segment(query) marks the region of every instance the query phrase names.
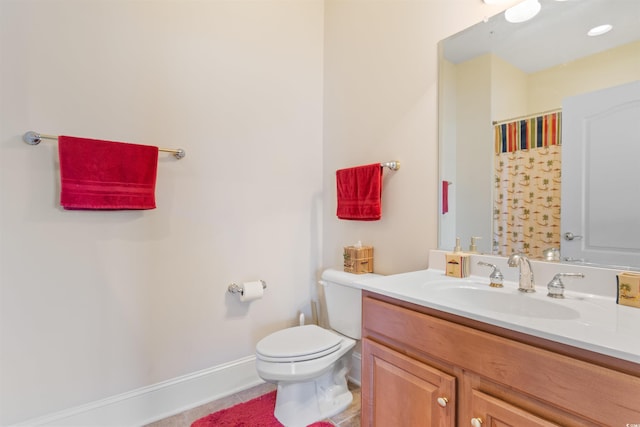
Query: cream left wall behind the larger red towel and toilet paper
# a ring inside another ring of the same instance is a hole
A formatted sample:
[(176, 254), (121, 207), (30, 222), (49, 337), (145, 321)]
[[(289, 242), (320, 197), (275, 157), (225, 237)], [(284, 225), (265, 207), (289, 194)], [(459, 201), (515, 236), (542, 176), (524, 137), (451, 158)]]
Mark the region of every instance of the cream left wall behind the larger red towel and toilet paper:
[[(321, 268), (323, 3), (1, 0), (0, 425), (252, 355)], [(56, 142), (182, 147), (63, 211)], [(233, 281), (264, 279), (240, 304)]]

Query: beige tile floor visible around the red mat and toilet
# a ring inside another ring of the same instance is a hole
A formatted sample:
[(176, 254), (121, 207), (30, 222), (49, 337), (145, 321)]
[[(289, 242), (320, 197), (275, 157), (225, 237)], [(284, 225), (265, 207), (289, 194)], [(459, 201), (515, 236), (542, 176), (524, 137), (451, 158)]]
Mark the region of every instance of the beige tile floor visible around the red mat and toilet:
[[(360, 387), (355, 384), (349, 383), (349, 388), (353, 393), (353, 402), (351, 403), (351, 406), (349, 406), (340, 414), (323, 421), (328, 421), (334, 426), (338, 427), (360, 427)], [(172, 417), (156, 421), (154, 423), (148, 424), (145, 427), (189, 427), (191, 423), (199, 418), (202, 418), (221, 409), (237, 405), (238, 403), (254, 399), (272, 390), (275, 390), (275, 385), (265, 383), (225, 397), (223, 399), (215, 400), (205, 405), (198, 406), (197, 408), (193, 408)]]

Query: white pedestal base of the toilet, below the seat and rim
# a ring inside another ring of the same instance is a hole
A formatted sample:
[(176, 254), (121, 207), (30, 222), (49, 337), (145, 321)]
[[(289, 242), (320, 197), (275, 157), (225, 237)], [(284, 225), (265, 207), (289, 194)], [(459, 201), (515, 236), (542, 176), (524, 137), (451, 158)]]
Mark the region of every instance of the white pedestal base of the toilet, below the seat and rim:
[(344, 411), (353, 400), (348, 371), (347, 358), (342, 358), (315, 380), (279, 382), (275, 417), (285, 427), (305, 427)]

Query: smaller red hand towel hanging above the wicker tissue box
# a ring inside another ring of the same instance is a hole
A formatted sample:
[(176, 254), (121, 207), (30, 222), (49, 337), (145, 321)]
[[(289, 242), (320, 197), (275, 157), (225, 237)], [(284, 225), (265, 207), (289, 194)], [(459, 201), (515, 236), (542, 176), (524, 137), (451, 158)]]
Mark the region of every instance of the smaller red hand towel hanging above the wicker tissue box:
[(336, 171), (340, 219), (375, 221), (382, 217), (380, 163)]

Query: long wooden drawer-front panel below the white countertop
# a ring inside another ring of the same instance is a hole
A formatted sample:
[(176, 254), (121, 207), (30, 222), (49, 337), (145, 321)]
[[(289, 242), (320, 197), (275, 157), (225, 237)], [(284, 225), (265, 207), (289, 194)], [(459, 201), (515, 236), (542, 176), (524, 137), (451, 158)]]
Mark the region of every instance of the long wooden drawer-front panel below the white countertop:
[(458, 366), (605, 425), (640, 420), (640, 378), (636, 376), (370, 296), (363, 298), (365, 337)]

